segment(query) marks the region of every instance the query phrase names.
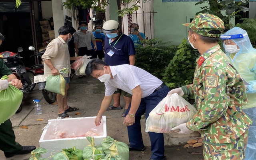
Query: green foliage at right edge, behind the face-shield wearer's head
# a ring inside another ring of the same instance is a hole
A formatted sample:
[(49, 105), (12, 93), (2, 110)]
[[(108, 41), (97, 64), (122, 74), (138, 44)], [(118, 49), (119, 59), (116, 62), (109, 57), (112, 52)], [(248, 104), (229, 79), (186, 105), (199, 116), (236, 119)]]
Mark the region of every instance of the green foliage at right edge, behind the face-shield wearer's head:
[(256, 20), (249, 18), (241, 18), (240, 20), (243, 22), (236, 24), (236, 26), (246, 30), (252, 46), (256, 48)]

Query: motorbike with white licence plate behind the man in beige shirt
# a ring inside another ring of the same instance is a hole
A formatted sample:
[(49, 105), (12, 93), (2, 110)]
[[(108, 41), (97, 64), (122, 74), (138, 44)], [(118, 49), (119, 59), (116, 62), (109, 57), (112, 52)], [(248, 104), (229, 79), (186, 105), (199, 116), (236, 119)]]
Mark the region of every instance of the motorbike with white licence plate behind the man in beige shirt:
[[(29, 50), (35, 50), (33, 46), (30, 46), (28, 48)], [(41, 57), (44, 54), (45, 50), (42, 50), (41, 52), (38, 52), (36, 50), (36, 54), (32, 56)], [(32, 57), (30, 56), (30, 57)], [(48, 90), (45, 90), (45, 85), (46, 85), (46, 78), (47, 76), (44, 75), (44, 65), (43, 64), (36, 64), (34, 66), (31, 66), (32, 72), (34, 73), (34, 83), (38, 85), (38, 89), (41, 90), (44, 99), (46, 102), (49, 104), (55, 102), (56, 100), (56, 95), (53, 92), (50, 92)]]

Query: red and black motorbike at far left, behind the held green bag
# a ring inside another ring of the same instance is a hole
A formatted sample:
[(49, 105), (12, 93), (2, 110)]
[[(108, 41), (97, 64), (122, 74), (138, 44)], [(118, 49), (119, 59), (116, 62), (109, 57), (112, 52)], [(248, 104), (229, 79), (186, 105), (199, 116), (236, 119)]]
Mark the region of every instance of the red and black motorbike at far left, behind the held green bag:
[[(28, 68), (22, 62), (22, 57), (19, 52), (22, 52), (21, 47), (18, 48), (18, 52), (2, 52), (0, 53), (4, 57), (6, 66), (12, 71), (12, 73), (22, 82), (22, 88), (20, 89), (24, 94), (30, 93), (36, 86), (34, 83), (34, 73), (31, 68)], [(22, 110), (22, 104), (18, 108), (17, 112)]]

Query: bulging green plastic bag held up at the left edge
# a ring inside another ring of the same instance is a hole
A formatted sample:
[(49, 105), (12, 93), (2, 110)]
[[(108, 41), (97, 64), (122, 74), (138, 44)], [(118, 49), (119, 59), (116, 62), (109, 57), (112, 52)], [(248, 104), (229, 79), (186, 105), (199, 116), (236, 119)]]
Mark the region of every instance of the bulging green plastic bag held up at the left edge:
[[(1, 79), (9, 77), (4, 75)], [(5, 90), (0, 90), (0, 124), (8, 120), (20, 107), (23, 93), (16, 87), (9, 84)]]

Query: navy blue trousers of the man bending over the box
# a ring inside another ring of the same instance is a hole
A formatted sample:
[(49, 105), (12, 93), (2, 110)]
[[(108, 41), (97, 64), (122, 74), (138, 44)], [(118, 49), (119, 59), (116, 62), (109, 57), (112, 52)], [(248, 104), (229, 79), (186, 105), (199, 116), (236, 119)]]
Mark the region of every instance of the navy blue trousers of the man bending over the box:
[[(170, 89), (167, 86), (160, 88), (156, 92), (153, 92), (149, 96), (141, 99), (140, 106), (135, 114), (135, 123), (132, 126), (128, 126), (128, 137), (130, 146), (132, 148), (144, 148), (140, 119), (141, 116), (146, 113), (146, 119), (149, 116), (149, 113), (158, 105), (158, 103), (166, 97)], [(128, 110), (125, 116), (130, 110), (131, 104), (128, 107)], [(164, 134), (148, 132), (151, 142), (151, 158), (153, 160), (161, 160), (164, 158)]]

